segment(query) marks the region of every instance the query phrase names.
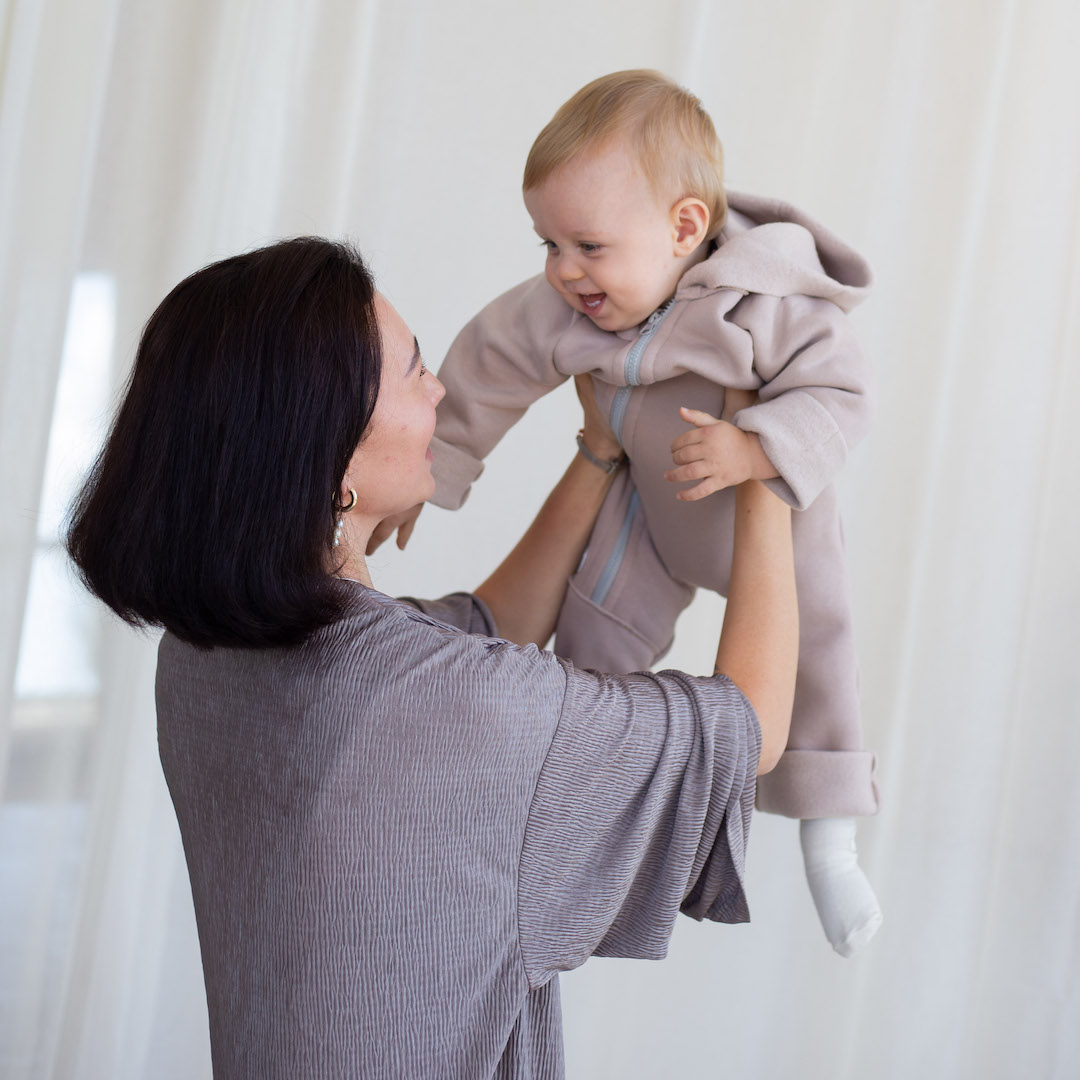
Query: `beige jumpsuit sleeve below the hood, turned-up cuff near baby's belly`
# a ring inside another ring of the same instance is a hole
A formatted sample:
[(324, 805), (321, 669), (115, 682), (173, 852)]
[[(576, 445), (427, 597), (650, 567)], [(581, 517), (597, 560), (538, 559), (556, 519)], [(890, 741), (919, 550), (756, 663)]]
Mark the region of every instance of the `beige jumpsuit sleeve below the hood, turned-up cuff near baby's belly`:
[(761, 380), (759, 404), (739, 413), (735, 424), (758, 435), (780, 473), (768, 486), (806, 510), (869, 427), (869, 362), (831, 300), (753, 295), (729, 318), (750, 333)]

